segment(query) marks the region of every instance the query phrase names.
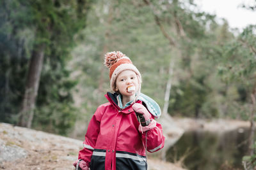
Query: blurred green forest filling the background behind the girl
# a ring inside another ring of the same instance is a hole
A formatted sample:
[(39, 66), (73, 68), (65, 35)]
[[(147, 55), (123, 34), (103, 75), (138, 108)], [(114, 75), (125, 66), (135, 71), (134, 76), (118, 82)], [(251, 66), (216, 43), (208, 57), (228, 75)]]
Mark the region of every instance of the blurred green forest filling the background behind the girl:
[(8, 0), (0, 39), (1, 122), (83, 139), (110, 90), (104, 53), (120, 50), (163, 115), (250, 121), (256, 164), (256, 25), (230, 29), (193, 0)]

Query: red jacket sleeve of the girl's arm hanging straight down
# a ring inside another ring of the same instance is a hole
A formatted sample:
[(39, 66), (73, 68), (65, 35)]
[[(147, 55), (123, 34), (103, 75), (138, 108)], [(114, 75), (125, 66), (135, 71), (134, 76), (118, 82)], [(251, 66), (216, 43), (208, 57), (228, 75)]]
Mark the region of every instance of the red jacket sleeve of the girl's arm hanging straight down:
[(97, 110), (95, 111), (92, 119), (90, 120), (87, 132), (84, 136), (84, 148), (80, 150), (78, 154), (78, 159), (83, 159), (88, 165), (91, 162), (92, 153), (99, 135), (101, 118), (102, 113), (99, 106), (99, 108), (97, 108)]

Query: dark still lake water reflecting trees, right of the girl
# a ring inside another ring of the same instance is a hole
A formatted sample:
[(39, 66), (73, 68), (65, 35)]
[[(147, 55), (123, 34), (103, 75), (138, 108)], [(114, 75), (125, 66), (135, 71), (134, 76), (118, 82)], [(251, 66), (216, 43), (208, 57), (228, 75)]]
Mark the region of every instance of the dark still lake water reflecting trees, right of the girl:
[(166, 153), (166, 160), (175, 162), (182, 156), (191, 170), (215, 170), (236, 167), (243, 169), (242, 158), (248, 150), (249, 129), (228, 132), (185, 132)]

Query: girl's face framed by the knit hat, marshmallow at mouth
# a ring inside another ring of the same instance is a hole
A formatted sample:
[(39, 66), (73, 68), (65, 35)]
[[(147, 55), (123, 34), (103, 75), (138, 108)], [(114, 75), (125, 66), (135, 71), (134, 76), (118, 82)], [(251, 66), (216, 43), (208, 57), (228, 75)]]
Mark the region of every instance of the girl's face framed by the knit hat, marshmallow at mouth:
[[(133, 85), (135, 91), (128, 92), (128, 87)], [(116, 78), (116, 88), (119, 90), (122, 96), (132, 96), (139, 89), (138, 77), (134, 71), (125, 70), (122, 71)]]

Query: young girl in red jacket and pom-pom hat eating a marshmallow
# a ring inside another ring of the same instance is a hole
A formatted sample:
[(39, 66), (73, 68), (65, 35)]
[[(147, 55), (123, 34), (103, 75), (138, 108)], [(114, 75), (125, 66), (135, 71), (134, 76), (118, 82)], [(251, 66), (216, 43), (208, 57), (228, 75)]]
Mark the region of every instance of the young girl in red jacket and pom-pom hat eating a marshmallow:
[(150, 97), (141, 94), (141, 74), (122, 52), (109, 52), (111, 89), (108, 103), (95, 111), (74, 166), (82, 170), (147, 169), (146, 149), (164, 146), (162, 127), (154, 120), (161, 111)]

